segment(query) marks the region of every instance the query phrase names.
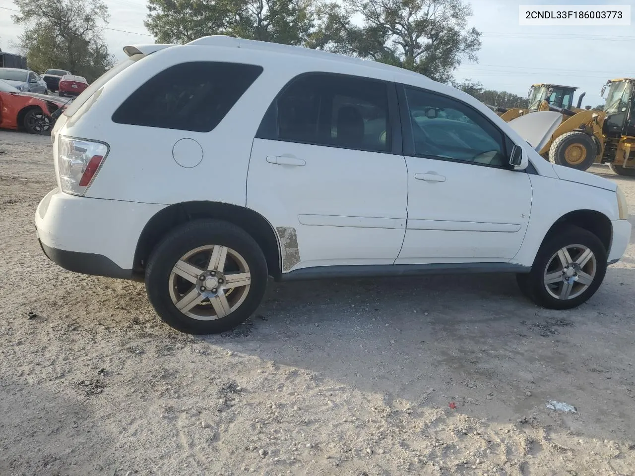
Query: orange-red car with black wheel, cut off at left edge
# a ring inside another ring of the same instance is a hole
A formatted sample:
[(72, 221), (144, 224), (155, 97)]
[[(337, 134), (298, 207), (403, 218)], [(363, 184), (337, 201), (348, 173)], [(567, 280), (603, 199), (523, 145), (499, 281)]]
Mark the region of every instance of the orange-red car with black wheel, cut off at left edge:
[(37, 93), (20, 93), (0, 80), (0, 128), (31, 134), (50, 133), (65, 102)]

